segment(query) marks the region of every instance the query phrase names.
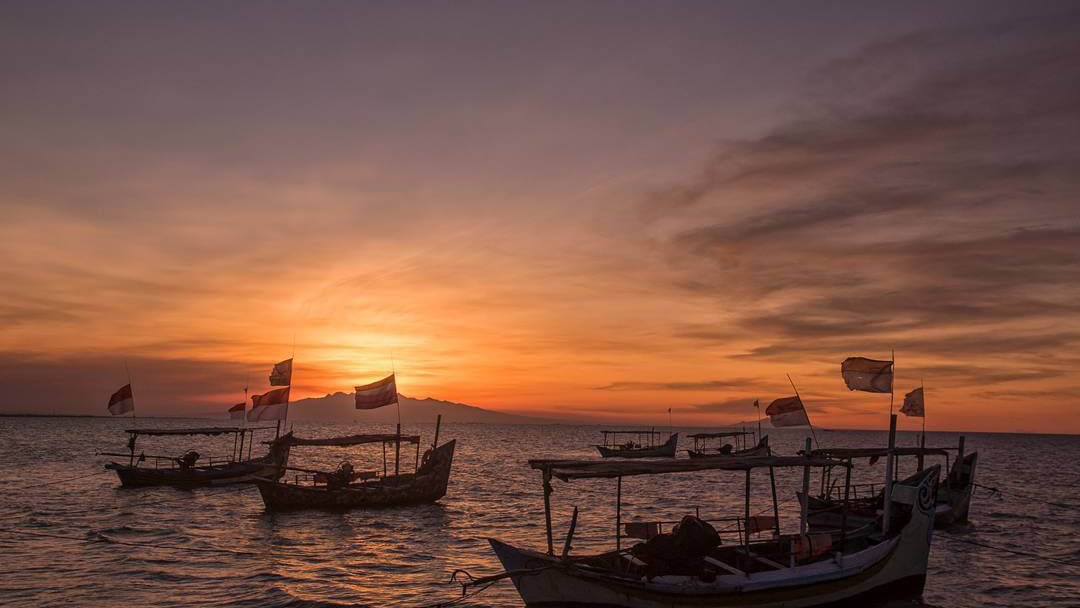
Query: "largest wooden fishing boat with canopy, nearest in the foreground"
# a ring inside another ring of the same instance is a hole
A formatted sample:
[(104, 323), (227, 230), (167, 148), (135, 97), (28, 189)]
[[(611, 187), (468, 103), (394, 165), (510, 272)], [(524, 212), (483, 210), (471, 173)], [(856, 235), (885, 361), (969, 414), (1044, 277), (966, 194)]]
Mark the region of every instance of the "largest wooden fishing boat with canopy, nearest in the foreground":
[[(891, 509), (870, 531), (853, 527), (829, 532), (779, 533), (779, 518), (769, 538), (755, 540), (751, 516), (751, 472), (777, 468), (809, 470), (848, 467), (847, 462), (811, 456), (732, 457), (665, 461), (530, 461), (543, 475), (548, 552), (519, 549), (488, 539), (504, 572), (474, 579), (467, 586), (510, 578), (526, 606), (604, 606), (629, 608), (808, 608), (852, 605), (876, 597), (921, 593), (930, 554), (937, 468), (897, 483)], [(738, 542), (725, 544), (706, 522), (684, 517), (666, 538), (656, 536), (629, 549), (622, 538), (622, 477), (732, 471), (746, 478), (745, 506)], [(616, 478), (616, 549), (589, 556), (570, 555), (577, 509), (561, 555), (551, 530), (551, 479)], [(688, 531), (687, 531), (688, 530)], [(849, 533), (852, 532), (852, 533)]]

